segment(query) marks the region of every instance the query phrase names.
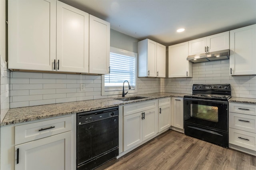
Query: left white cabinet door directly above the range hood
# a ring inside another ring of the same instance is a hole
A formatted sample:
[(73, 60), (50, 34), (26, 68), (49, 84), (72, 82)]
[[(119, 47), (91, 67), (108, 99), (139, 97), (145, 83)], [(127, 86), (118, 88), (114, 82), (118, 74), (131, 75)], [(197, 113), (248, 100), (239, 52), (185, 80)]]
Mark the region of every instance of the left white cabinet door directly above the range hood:
[(188, 42), (188, 55), (206, 53), (207, 38), (199, 38)]

